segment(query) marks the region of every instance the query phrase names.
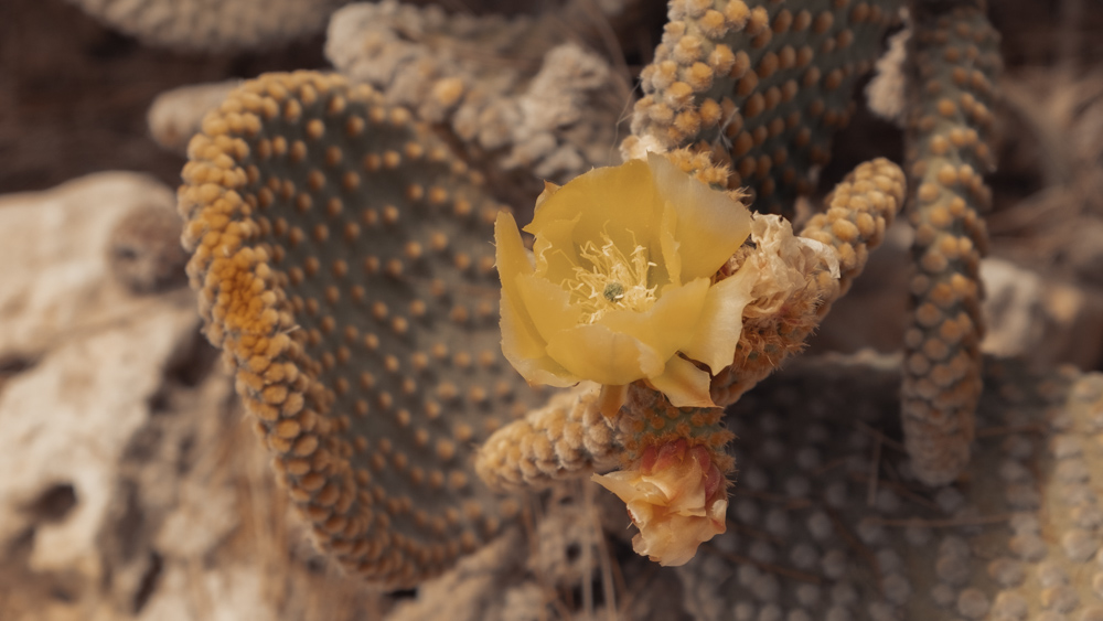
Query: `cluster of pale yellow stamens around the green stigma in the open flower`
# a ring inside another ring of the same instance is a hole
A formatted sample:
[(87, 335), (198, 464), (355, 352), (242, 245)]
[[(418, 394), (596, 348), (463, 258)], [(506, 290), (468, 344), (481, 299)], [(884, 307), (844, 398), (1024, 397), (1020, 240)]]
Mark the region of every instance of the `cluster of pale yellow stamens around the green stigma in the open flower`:
[(656, 265), (647, 260), (647, 248), (636, 244), (625, 256), (608, 234), (602, 233), (601, 240), (600, 248), (593, 242), (579, 248), (591, 267), (575, 266), (575, 278), (567, 282), (587, 323), (611, 310), (645, 311), (656, 299), (657, 286), (647, 287), (647, 271)]

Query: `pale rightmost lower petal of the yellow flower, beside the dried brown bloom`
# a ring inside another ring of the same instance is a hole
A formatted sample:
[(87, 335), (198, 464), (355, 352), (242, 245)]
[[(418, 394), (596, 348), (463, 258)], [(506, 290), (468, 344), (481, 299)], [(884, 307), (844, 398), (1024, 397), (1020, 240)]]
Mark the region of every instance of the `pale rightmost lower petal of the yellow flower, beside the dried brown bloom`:
[(753, 299), (757, 275), (745, 265), (739, 271), (709, 287), (696, 332), (682, 353), (705, 363), (714, 374), (731, 364), (743, 330), (743, 308)]

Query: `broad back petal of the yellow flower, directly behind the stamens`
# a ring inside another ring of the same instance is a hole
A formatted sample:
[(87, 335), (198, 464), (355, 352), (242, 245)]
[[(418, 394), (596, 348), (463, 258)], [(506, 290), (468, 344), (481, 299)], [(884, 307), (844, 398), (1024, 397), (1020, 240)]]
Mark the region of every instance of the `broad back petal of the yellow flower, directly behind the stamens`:
[(593, 169), (548, 193), (525, 231), (538, 236), (548, 223), (580, 215), (574, 229), (576, 246), (599, 242), (604, 233), (622, 249), (636, 244), (657, 249), (662, 206), (651, 169), (632, 160)]

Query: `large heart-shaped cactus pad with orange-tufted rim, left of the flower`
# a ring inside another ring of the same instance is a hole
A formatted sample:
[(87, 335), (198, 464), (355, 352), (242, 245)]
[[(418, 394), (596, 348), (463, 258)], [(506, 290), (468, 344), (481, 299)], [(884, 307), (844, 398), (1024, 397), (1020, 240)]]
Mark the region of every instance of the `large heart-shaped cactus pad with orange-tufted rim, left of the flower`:
[(408, 587), (517, 511), (471, 446), (527, 409), (497, 329), (483, 180), (370, 87), (269, 74), (189, 148), (180, 211), (212, 343), (343, 565)]

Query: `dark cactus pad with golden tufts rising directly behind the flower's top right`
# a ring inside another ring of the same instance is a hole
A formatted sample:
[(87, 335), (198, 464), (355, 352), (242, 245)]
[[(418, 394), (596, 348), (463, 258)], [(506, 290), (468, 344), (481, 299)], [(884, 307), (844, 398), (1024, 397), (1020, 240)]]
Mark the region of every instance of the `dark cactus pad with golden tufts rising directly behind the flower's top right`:
[(625, 157), (693, 147), (729, 163), (752, 208), (792, 215), (853, 113), (855, 81), (881, 53), (898, 0), (675, 0), (641, 74)]

